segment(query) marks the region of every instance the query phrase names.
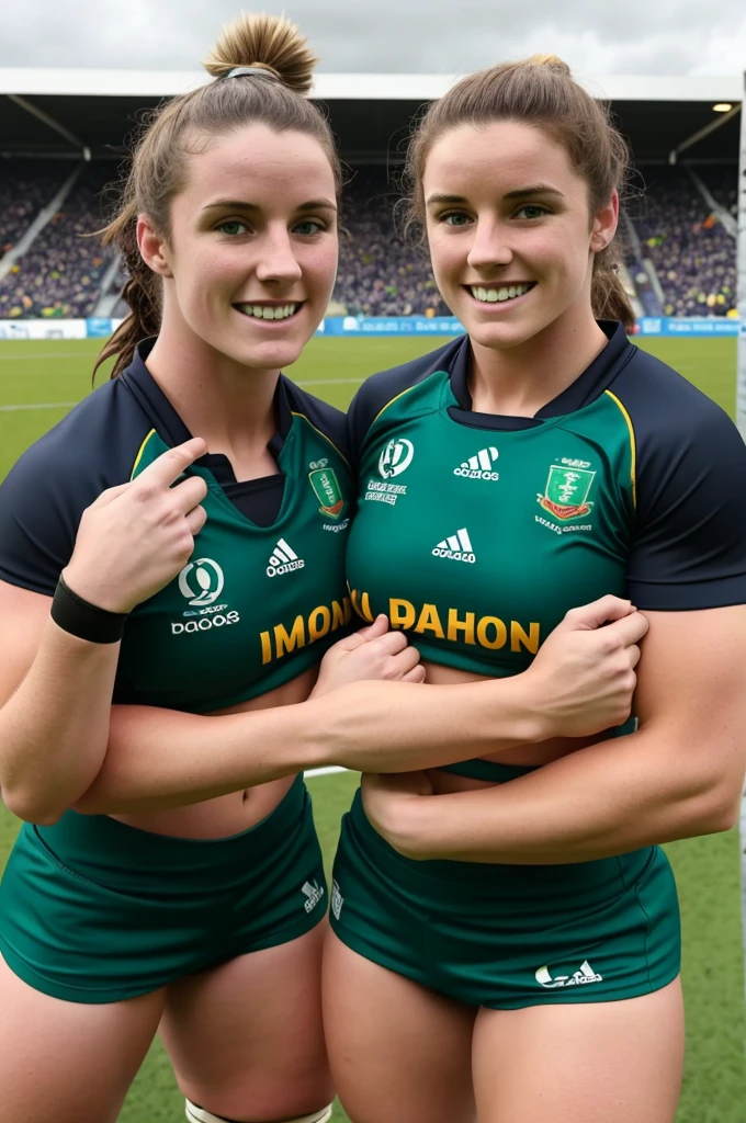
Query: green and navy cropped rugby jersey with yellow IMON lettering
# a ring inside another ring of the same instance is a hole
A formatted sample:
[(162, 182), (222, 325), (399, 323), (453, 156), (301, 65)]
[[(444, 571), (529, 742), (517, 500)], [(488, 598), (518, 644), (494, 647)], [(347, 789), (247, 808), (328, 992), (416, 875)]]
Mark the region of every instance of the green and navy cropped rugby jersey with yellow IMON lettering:
[[(33, 445), (0, 486), (0, 579), (52, 596), (83, 510), (189, 439), (147, 371), (149, 346)], [(274, 407), (278, 476), (236, 482), (217, 455), (188, 469), (207, 481), (207, 521), (186, 566), (128, 618), (115, 702), (222, 709), (294, 678), (344, 634), (344, 417), (283, 376)], [(281, 499), (258, 524), (247, 512), (267, 506), (257, 494), (265, 484), (279, 484)]]

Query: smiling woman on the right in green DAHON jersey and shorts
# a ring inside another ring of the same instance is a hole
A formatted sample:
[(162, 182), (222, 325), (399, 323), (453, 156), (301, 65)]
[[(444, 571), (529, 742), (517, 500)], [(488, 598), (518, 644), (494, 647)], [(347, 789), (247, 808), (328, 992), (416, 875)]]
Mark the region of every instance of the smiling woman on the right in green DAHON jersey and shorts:
[(637, 724), (363, 777), (325, 952), (354, 1123), (675, 1115), (679, 910), (658, 843), (737, 821), (746, 449), (627, 340), (626, 165), (552, 56), (463, 79), (411, 138), (411, 217), (466, 335), (353, 402), (358, 499), (392, 465), (399, 485), (395, 504), (358, 503), (353, 603), (417, 645), (425, 695), (519, 677), (600, 593), (649, 631)]

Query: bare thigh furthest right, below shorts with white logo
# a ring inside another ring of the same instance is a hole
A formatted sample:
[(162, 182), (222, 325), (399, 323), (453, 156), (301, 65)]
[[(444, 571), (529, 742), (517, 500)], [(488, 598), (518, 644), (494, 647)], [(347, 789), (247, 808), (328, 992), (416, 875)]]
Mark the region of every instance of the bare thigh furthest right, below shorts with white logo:
[(624, 1002), (481, 1010), (480, 1123), (673, 1123), (684, 1020), (680, 980)]

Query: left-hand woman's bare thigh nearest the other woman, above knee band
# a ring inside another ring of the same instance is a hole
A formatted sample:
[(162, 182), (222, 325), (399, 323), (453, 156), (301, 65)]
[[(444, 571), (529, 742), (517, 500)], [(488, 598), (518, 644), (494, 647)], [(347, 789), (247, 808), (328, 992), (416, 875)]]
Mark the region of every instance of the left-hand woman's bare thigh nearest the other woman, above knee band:
[(167, 987), (161, 1037), (192, 1103), (233, 1120), (278, 1120), (331, 1101), (321, 1025), (325, 929)]

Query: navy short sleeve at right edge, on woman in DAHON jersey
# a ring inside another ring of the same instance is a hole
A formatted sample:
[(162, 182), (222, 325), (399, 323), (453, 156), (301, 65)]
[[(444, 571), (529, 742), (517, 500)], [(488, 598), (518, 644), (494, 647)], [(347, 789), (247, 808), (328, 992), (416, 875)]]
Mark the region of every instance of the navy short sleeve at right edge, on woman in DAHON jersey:
[(651, 610), (746, 603), (746, 445), (736, 426), (642, 350), (609, 389), (636, 444), (633, 602)]

